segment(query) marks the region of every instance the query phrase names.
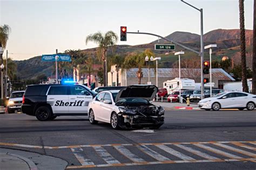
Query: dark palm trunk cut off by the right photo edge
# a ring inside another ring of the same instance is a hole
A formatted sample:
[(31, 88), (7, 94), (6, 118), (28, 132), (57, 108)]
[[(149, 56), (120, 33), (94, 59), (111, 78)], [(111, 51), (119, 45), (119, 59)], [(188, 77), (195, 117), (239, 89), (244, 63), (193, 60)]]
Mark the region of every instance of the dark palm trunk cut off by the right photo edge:
[(252, 94), (256, 94), (256, 0), (253, 6)]

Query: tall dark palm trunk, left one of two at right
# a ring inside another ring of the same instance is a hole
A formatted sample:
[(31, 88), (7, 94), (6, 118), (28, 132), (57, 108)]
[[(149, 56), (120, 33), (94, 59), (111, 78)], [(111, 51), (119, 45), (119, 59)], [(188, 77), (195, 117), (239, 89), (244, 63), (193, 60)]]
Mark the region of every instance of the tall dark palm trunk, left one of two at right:
[(245, 16), (244, 0), (239, 0), (239, 19), (240, 19), (240, 48), (241, 48), (241, 66), (242, 66), (242, 91), (248, 92), (246, 75), (246, 51), (245, 51)]

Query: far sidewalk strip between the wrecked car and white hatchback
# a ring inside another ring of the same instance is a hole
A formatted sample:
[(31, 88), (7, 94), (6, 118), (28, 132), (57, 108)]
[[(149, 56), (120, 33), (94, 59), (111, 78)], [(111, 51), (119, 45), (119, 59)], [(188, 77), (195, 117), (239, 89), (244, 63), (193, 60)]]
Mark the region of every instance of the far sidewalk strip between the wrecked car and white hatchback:
[(161, 107), (164, 107), (165, 110), (176, 110), (176, 109), (182, 109), (182, 110), (200, 110), (198, 108), (198, 104), (190, 104), (190, 106), (187, 106), (186, 103), (178, 103), (178, 102), (161, 102), (161, 101), (154, 101), (154, 105), (160, 105)]

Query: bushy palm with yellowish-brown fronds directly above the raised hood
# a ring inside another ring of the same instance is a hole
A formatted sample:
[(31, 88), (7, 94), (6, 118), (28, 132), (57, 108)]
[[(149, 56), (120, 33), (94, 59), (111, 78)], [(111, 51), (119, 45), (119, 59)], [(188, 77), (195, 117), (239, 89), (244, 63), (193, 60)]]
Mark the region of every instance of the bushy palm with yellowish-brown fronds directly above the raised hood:
[(138, 77), (138, 84), (141, 84), (142, 77), (143, 77), (142, 67), (144, 66), (145, 66), (145, 53), (135, 53), (135, 54), (126, 56), (122, 70), (138, 68), (136, 75)]

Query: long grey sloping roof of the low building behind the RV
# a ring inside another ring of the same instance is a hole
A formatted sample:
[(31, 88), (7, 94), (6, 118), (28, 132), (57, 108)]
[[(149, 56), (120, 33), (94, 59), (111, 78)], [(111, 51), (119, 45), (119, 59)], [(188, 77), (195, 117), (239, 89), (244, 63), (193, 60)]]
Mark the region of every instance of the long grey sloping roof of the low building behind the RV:
[[(199, 68), (181, 68), (181, 77), (190, 78), (191, 74), (198, 75), (200, 77), (200, 70)], [(137, 77), (136, 72), (138, 72), (138, 68), (131, 68), (127, 70), (126, 74), (127, 77)], [(142, 68), (143, 77), (148, 77), (149, 69)], [(155, 77), (155, 69), (150, 69), (150, 77)], [(158, 68), (158, 78), (159, 77), (166, 77), (170, 79), (174, 79), (179, 76), (179, 69), (178, 68)], [(194, 77), (194, 76), (193, 76)], [(205, 75), (206, 78), (210, 77), (209, 74)], [(228, 80), (228, 81), (235, 81), (235, 79), (225, 72), (222, 68), (213, 68), (212, 69), (212, 77), (217, 77), (219, 80)]]

